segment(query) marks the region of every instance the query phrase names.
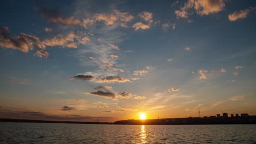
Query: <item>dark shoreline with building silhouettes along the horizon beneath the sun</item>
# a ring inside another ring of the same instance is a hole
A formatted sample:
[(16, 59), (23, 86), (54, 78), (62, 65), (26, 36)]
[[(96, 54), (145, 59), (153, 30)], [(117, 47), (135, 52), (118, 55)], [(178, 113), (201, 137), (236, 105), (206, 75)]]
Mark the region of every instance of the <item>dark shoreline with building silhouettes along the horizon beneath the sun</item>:
[(77, 124), (132, 124), (132, 125), (190, 125), (190, 124), (256, 124), (256, 116), (249, 116), (247, 113), (242, 113), (241, 116), (231, 115), (228, 113), (219, 114), (210, 117), (188, 117), (188, 118), (162, 118), (162, 119), (128, 119), (108, 122), (76, 122), (76, 121), (42, 121), (30, 119), (9, 119), (0, 118), (0, 122), (19, 122), (19, 123), (77, 123)]

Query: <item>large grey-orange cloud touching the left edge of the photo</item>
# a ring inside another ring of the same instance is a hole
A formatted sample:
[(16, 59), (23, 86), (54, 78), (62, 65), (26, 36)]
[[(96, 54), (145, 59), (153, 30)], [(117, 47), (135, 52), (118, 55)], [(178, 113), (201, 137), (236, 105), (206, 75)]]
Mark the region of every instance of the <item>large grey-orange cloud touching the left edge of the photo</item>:
[(18, 36), (9, 37), (10, 32), (8, 27), (0, 27), (0, 46), (17, 49), (22, 52), (28, 52), (34, 49), (34, 46), (41, 50), (45, 50), (45, 46), (41, 43), (39, 38), (34, 35), (20, 33)]

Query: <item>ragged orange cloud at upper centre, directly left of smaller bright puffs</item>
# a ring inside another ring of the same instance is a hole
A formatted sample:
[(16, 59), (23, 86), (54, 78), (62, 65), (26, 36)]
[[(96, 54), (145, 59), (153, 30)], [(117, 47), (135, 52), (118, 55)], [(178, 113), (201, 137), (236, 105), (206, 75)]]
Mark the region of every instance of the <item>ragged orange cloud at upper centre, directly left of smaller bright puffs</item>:
[(129, 13), (122, 13), (114, 9), (112, 14), (95, 14), (94, 18), (96, 21), (104, 21), (106, 25), (114, 25), (114, 22), (120, 22), (120, 26), (127, 27), (126, 23), (134, 17)]

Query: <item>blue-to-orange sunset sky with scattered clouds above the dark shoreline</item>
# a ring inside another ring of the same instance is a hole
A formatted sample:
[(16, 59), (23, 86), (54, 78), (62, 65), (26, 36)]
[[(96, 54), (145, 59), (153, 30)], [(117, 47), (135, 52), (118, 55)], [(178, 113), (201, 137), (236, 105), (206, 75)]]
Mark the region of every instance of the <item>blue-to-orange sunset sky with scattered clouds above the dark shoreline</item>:
[(256, 1), (1, 1), (0, 118), (256, 115)]

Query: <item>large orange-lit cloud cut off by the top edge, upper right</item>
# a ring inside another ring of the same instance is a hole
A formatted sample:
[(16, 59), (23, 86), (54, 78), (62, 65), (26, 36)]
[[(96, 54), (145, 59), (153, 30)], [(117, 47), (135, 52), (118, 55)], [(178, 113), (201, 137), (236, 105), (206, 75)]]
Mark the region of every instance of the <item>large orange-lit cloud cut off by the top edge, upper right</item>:
[(178, 17), (188, 18), (193, 14), (193, 10), (200, 16), (215, 14), (222, 11), (225, 7), (223, 0), (188, 0), (184, 6), (175, 11)]

